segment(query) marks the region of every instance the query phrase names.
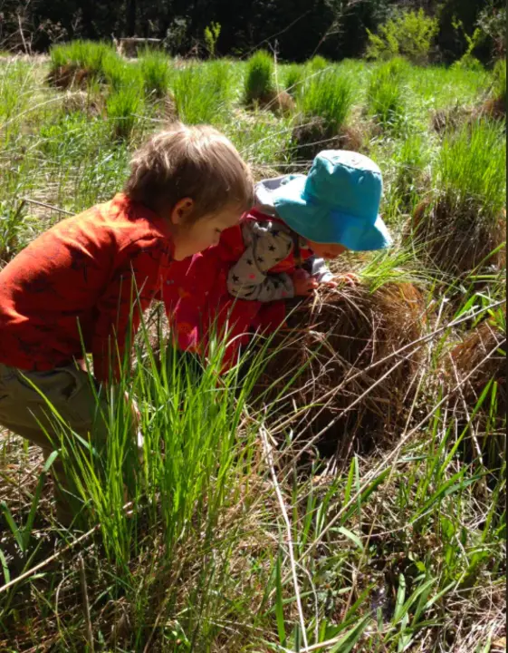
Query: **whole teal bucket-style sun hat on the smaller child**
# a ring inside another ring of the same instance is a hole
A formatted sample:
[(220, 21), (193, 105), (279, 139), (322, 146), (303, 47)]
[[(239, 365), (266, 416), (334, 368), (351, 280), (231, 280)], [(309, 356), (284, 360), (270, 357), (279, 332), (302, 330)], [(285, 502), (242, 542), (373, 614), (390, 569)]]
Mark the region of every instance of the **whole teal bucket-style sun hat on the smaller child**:
[(297, 175), (270, 193), (273, 209), (304, 239), (353, 251), (392, 244), (379, 216), (383, 182), (379, 167), (353, 151), (322, 151), (307, 176)]

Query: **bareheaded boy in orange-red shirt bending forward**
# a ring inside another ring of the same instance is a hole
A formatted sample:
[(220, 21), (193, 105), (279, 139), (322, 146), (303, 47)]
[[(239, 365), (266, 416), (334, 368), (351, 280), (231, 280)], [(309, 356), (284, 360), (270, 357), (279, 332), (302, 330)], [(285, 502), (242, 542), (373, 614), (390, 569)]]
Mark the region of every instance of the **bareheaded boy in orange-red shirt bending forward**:
[[(172, 261), (216, 244), (253, 192), (230, 141), (211, 127), (177, 125), (134, 154), (123, 193), (20, 252), (0, 271), (0, 425), (47, 457), (58, 444), (47, 397), (73, 432), (104, 443), (104, 386), (118, 379), (140, 313), (161, 297)], [(53, 473), (62, 479), (58, 459)]]

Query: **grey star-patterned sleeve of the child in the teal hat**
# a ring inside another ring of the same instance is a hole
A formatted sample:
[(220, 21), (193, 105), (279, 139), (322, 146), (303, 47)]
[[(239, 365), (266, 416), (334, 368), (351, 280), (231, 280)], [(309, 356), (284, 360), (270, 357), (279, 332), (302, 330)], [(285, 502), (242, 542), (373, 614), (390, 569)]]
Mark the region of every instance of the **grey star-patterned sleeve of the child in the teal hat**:
[(229, 270), (230, 295), (251, 301), (270, 302), (294, 296), (292, 278), (269, 270), (292, 251), (292, 237), (273, 222), (254, 223), (242, 257)]

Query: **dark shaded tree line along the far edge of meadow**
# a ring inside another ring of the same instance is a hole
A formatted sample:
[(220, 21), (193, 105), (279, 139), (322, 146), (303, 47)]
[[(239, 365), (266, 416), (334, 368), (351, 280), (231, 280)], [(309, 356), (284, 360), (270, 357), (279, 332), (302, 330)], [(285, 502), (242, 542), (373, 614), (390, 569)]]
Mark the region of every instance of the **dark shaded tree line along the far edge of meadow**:
[[(394, 11), (423, 7), (439, 15), (436, 58), (449, 62), (466, 46), (455, 19), (472, 34), (490, 5), (503, 0), (0, 0), (0, 38), (44, 50), (72, 38), (137, 35), (163, 39), (175, 54), (205, 54), (203, 33), (214, 22), (221, 25), (218, 54), (245, 55), (265, 44), (286, 61), (336, 60), (363, 54), (367, 28), (375, 31)], [(485, 40), (476, 56), (487, 62), (491, 45)]]

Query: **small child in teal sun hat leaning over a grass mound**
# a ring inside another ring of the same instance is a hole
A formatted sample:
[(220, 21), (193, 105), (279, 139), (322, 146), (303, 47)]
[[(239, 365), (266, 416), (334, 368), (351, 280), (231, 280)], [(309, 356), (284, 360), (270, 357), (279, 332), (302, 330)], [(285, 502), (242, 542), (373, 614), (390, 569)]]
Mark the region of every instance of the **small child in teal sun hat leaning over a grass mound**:
[(259, 183), (254, 209), (216, 247), (178, 266), (165, 288), (178, 346), (206, 354), (210, 334), (227, 331), (227, 367), (253, 333), (283, 325), (286, 299), (337, 285), (325, 260), (388, 248), (381, 194), (379, 167), (351, 151), (322, 151), (308, 175)]

